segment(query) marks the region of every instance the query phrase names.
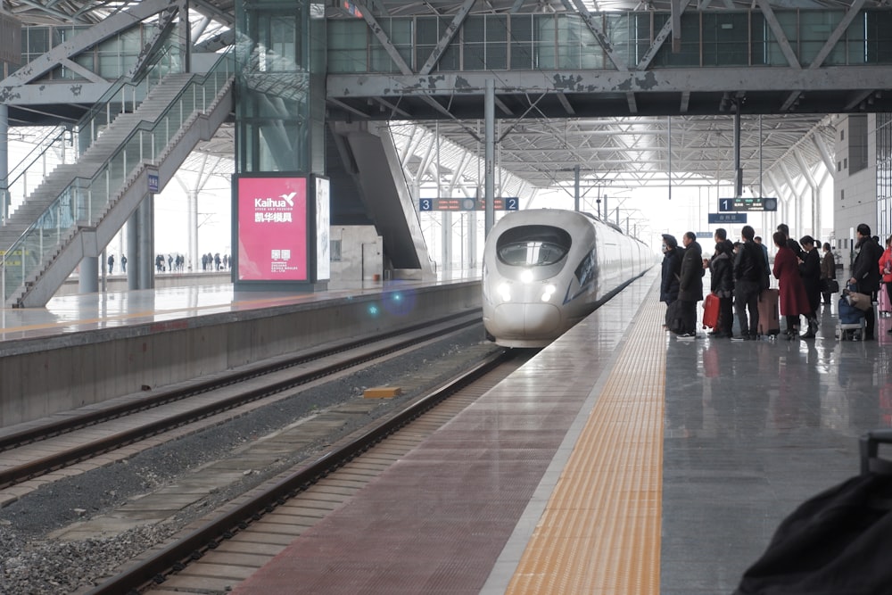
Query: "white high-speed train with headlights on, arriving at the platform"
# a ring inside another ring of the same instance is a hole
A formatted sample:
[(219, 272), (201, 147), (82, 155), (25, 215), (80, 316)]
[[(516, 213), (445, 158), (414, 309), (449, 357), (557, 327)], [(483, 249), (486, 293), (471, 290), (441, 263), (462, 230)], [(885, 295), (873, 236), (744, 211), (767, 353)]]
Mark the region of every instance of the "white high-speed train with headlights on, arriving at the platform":
[(587, 213), (507, 213), (483, 248), (483, 326), (506, 347), (543, 347), (655, 264), (656, 254)]

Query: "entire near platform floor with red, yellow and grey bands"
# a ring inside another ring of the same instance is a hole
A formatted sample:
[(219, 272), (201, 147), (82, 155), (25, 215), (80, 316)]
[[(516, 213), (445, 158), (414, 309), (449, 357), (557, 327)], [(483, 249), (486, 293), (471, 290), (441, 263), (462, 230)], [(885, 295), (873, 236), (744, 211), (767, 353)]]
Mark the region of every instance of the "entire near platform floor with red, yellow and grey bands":
[[(679, 341), (630, 285), (285, 547), (236, 595), (731, 593), (892, 425), (892, 319)], [(246, 546), (247, 547), (247, 546)], [(297, 591), (295, 591), (297, 590)]]

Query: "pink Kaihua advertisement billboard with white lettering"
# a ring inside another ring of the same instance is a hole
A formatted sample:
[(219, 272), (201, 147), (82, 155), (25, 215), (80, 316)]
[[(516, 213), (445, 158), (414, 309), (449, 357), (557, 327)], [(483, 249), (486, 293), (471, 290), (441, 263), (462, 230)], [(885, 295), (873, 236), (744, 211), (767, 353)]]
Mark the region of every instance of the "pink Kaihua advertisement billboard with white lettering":
[(307, 281), (307, 178), (238, 178), (238, 278)]

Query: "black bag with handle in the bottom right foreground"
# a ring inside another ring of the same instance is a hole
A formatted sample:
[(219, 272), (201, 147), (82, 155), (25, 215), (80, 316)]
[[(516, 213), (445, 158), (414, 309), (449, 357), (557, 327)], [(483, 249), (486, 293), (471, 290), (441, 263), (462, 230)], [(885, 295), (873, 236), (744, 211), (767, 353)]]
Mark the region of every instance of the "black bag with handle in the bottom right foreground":
[(861, 438), (861, 475), (814, 496), (780, 523), (734, 595), (892, 593), (892, 430)]

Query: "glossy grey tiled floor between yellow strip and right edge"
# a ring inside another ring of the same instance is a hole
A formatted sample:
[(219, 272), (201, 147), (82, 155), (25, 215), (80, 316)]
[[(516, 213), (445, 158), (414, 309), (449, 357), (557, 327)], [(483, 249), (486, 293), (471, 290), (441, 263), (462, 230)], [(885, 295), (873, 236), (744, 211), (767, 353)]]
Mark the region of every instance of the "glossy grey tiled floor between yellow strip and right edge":
[[(858, 437), (892, 425), (892, 318), (840, 340), (667, 334), (661, 592), (731, 593), (784, 516), (859, 471)], [(784, 329), (781, 321), (781, 330)]]

